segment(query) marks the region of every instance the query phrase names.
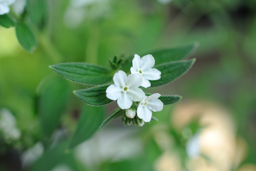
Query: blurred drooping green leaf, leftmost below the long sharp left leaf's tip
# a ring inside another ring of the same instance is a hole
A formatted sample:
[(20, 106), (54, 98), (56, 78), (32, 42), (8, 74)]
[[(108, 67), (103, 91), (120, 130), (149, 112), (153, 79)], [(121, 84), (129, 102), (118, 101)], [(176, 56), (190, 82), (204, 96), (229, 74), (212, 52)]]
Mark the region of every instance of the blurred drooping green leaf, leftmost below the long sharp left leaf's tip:
[(42, 93), (39, 94), (38, 113), (44, 135), (50, 138), (59, 124), (59, 119), (65, 110), (69, 89), (66, 80), (49, 79), (42, 83)]

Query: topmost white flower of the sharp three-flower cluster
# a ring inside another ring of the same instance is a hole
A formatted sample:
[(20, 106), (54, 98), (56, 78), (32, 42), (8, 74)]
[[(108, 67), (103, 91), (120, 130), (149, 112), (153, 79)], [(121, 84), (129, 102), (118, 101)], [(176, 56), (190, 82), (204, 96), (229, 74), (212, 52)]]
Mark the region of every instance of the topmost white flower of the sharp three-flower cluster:
[(140, 59), (140, 56), (135, 54), (132, 60), (131, 74), (141, 74), (143, 77), (142, 87), (150, 87), (149, 80), (158, 80), (161, 78), (161, 71), (152, 68), (155, 65), (155, 59), (148, 54)]

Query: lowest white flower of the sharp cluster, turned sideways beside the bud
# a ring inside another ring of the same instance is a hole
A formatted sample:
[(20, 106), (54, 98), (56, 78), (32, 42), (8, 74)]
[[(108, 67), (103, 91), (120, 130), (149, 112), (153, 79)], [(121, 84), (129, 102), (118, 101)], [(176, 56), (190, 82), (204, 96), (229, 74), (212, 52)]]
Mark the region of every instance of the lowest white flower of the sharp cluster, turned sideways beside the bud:
[(163, 110), (164, 104), (161, 100), (158, 99), (160, 96), (160, 94), (155, 93), (144, 97), (138, 106), (137, 116), (147, 123), (151, 120), (152, 111), (156, 112)]

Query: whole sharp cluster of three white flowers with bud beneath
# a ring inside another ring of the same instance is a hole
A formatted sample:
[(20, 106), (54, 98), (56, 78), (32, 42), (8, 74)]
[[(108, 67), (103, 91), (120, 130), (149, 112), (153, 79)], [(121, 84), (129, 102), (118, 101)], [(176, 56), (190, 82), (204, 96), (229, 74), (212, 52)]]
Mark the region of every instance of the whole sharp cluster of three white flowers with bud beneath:
[[(127, 76), (124, 71), (119, 70), (113, 77), (114, 84), (106, 89), (107, 97), (111, 100), (117, 100), (121, 109), (125, 109), (125, 115), (128, 118), (137, 116), (144, 122), (149, 122), (152, 118), (152, 111), (163, 110), (163, 102), (158, 98), (161, 96), (155, 93), (146, 96), (139, 87), (150, 87), (149, 80), (158, 80), (161, 78), (161, 71), (153, 68), (155, 59), (148, 54), (140, 58), (135, 54), (132, 60), (131, 74)], [(139, 102), (137, 111), (131, 109), (133, 102)]]

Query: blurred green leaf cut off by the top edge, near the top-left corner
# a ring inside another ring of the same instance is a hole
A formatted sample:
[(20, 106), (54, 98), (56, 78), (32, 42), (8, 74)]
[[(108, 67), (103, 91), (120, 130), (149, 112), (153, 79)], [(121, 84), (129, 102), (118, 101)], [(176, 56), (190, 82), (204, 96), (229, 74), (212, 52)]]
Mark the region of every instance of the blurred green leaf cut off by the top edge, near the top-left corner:
[(47, 1), (45, 0), (27, 0), (27, 10), (31, 21), (42, 29), (47, 17)]

